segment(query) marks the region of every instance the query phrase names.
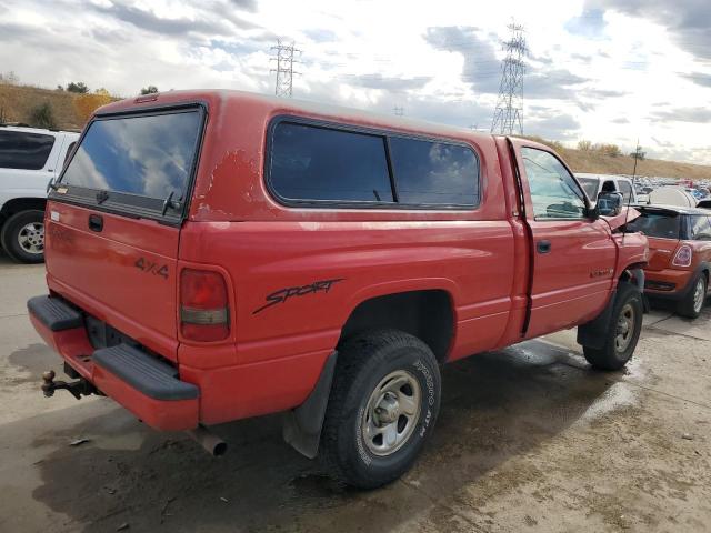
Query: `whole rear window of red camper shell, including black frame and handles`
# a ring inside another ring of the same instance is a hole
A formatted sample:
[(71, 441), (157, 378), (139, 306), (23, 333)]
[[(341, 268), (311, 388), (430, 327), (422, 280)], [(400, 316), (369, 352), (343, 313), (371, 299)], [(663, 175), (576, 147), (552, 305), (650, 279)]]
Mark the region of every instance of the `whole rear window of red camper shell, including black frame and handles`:
[(203, 122), (204, 112), (196, 105), (100, 115), (84, 131), (51, 198), (179, 222)]

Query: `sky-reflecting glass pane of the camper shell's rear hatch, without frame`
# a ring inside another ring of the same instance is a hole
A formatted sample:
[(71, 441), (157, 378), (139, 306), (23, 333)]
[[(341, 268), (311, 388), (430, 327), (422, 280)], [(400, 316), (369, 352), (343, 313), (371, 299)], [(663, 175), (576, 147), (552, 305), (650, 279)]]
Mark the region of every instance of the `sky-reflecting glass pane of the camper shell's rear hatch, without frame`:
[(61, 183), (184, 200), (200, 133), (198, 110), (91, 123)]

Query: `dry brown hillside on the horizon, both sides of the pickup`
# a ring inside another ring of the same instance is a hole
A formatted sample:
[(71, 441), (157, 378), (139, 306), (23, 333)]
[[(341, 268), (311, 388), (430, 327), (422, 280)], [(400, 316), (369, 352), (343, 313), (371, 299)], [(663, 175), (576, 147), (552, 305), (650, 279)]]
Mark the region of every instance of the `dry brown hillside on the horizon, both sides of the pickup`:
[[(96, 95), (91, 95), (92, 98)], [(81, 129), (89, 110), (82, 114), (77, 99), (82, 98), (67, 91), (40, 89), (31, 86), (10, 86), (0, 83), (0, 114), (8, 122), (31, 123), (32, 109), (48, 102), (52, 108), (57, 125), (60, 129)], [(87, 98), (87, 97), (83, 97)], [(107, 97), (109, 98), (109, 97)], [(116, 98), (110, 98), (116, 100)], [(90, 103), (90, 102), (87, 102)], [(97, 102), (96, 105), (101, 102)], [(106, 102), (103, 102), (106, 103)], [(96, 107), (94, 105), (94, 107)], [(86, 108), (86, 105), (84, 105)], [(627, 155), (611, 157), (592, 150), (573, 150), (561, 148), (560, 143), (550, 143), (561, 152), (574, 172), (591, 172), (597, 174), (631, 174), (634, 160)], [(711, 180), (711, 167), (675, 161), (645, 159), (638, 162), (638, 175), (708, 179)]]

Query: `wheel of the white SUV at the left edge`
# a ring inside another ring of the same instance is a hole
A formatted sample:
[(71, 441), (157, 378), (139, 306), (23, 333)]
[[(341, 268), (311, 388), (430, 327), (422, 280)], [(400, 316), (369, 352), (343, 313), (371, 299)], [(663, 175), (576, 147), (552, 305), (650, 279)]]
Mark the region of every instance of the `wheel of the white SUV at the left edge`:
[(44, 261), (44, 212), (20, 211), (2, 225), (0, 242), (11, 259), (20, 263)]

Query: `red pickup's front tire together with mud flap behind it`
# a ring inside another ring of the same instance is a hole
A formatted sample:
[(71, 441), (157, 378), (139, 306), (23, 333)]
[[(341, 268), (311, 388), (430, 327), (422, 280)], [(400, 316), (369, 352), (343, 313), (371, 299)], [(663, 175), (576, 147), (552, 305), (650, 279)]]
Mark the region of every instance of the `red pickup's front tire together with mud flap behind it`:
[[(601, 349), (583, 346), (585, 359), (593, 368), (599, 370), (620, 370), (627, 364), (640, 339), (642, 331), (642, 314), (644, 306), (642, 304), (642, 294), (639, 289), (631, 283), (620, 283), (614, 299), (614, 306), (610, 318), (610, 324), (607, 328), (604, 345)], [(627, 334), (622, 333), (623, 325), (620, 320), (625, 320), (628, 314), (632, 313), (633, 323), (627, 326)], [(618, 334), (622, 335), (623, 343), (619, 343)]]

